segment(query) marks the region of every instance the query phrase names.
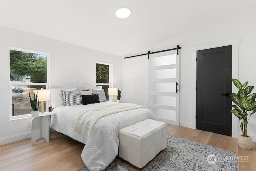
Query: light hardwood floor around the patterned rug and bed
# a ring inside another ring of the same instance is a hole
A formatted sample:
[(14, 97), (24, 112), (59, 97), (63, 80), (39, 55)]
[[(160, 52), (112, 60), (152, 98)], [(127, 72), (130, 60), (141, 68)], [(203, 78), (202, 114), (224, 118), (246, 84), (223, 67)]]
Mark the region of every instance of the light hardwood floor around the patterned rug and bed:
[[(248, 162), (238, 161), (239, 170), (256, 170), (256, 143), (251, 150), (244, 150), (238, 146), (236, 138), (174, 125), (168, 125), (168, 134), (248, 156)], [(52, 132), (49, 143), (39, 139), (31, 145), (29, 138), (1, 145), (0, 171), (78, 171), (85, 167), (81, 159), (83, 147), (84, 144), (58, 132)]]

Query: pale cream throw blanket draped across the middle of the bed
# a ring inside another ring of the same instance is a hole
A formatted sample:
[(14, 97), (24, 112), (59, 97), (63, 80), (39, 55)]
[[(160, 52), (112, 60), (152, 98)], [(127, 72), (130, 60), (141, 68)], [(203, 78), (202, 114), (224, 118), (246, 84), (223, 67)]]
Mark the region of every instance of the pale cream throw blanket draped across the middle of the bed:
[(96, 122), (107, 115), (114, 113), (128, 111), (132, 109), (144, 108), (146, 106), (137, 105), (134, 103), (114, 103), (111, 105), (105, 105), (102, 107), (96, 107), (93, 109), (85, 110), (78, 115), (74, 121), (74, 129), (82, 135), (90, 136)]

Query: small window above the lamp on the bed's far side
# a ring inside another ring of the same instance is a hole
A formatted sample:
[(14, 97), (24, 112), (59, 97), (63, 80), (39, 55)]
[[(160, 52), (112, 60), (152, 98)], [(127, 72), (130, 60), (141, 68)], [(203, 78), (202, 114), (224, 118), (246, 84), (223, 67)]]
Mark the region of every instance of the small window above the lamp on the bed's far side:
[(108, 88), (113, 85), (113, 65), (96, 62), (96, 86), (102, 86), (109, 101)]

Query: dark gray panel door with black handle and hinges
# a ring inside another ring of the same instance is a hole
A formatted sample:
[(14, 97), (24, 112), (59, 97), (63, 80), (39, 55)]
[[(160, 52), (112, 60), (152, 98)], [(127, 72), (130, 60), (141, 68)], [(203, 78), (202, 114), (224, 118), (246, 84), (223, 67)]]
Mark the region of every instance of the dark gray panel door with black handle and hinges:
[(196, 127), (231, 136), (232, 46), (197, 51)]

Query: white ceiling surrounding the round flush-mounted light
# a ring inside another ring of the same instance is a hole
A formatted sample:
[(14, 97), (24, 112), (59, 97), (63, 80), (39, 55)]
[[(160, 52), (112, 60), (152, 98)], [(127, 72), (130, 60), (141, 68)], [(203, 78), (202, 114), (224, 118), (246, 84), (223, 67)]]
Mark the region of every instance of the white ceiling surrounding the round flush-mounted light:
[[(115, 16), (121, 6), (130, 17)], [(256, 0), (0, 0), (0, 26), (127, 56), (255, 7)]]

